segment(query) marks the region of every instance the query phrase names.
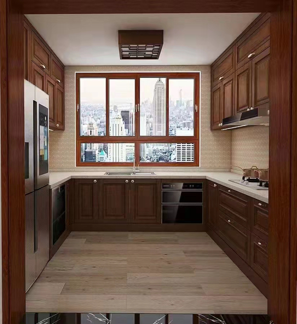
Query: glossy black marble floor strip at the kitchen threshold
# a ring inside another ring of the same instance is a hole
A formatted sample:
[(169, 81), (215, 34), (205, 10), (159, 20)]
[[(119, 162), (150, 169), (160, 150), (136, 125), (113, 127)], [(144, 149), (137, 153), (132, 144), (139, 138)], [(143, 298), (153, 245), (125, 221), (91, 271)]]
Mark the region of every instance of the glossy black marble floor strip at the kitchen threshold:
[(27, 313), (25, 324), (269, 324), (267, 315)]

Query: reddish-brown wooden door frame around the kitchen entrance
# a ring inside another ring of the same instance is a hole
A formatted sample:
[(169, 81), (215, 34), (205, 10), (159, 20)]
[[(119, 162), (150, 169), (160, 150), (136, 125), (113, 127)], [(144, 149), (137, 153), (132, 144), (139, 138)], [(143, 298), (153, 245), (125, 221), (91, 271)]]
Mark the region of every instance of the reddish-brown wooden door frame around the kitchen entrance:
[(22, 14), (271, 11), (269, 313), (276, 324), (295, 323), (297, 0), (119, 1), (0, 0), (3, 322), (19, 324), (25, 312)]

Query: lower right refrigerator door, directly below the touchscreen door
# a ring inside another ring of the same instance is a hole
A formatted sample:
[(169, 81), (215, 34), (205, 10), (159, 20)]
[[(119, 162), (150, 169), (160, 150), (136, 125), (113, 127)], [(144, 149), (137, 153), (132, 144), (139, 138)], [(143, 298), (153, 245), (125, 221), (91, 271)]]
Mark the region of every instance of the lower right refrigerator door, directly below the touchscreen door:
[(36, 277), (50, 259), (50, 187), (35, 190)]

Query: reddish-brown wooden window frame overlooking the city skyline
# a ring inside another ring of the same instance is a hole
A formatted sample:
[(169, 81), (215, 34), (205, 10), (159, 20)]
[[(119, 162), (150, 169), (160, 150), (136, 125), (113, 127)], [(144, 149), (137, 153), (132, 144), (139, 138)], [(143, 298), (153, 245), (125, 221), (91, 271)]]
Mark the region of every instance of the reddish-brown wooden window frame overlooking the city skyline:
[[(80, 134), (80, 79), (106, 78), (106, 135), (81, 136)], [(140, 136), (139, 112), (135, 113), (135, 136), (109, 136), (109, 79), (135, 79), (135, 104), (140, 104), (140, 78), (163, 77), (166, 78), (166, 136)], [(191, 78), (195, 80), (194, 88), (194, 136), (169, 136), (169, 79)], [(197, 111), (195, 106), (197, 105)], [(145, 73), (104, 73), (104, 72), (77, 72), (76, 73), (76, 166), (102, 167), (102, 166), (133, 166), (130, 162), (82, 162), (81, 144), (83, 143), (135, 143), (135, 164), (140, 167), (199, 167), (200, 153), (200, 72), (145, 72)], [(194, 162), (140, 162), (140, 143), (194, 143)]]

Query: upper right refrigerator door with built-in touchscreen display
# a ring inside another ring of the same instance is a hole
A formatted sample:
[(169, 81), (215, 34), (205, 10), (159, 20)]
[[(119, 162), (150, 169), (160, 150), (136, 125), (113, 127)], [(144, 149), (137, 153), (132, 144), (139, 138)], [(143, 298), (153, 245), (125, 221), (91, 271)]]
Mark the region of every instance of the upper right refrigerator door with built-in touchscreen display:
[(35, 190), (49, 184), (49, 96), (35, 88), (34, 182)]

